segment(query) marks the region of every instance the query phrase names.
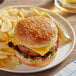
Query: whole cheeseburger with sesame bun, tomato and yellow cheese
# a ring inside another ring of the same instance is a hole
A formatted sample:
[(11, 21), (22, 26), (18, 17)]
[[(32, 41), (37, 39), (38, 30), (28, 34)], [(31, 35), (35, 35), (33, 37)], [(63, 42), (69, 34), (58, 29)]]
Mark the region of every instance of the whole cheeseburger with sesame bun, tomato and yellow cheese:
[(20, 21), (14, 30), (18, 45), (9, 42), (16, 49), (20, 62), (30, 66), (45, 66), (51, 63), (57, 53), (58, 29), (55, 23), (43, 16), (32, 16)]

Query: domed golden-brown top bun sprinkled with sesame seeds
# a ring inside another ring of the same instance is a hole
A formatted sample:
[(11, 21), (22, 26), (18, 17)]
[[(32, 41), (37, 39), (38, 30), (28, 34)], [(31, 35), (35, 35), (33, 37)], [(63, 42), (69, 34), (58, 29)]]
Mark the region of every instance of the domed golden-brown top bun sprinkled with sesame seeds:
[(54, 22), (43, 16), (32, 16), (20, 21), (14, 31), (15, 39), (31, 48), (45, 47), (57, 39)]

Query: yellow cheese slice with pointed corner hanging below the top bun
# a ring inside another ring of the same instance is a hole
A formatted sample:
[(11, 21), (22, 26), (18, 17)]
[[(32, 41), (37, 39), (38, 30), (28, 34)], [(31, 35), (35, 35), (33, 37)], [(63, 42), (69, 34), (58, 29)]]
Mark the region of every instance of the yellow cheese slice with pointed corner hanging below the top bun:
[(33, 51), (35, 51), (36, 53), (40, 54), (41, 56), (44, 56), (48, 51), (49, 49), (55, 44), (57, 40), (55, 40), (52, 44), (50, 44), (49, 46), (46, 46), (46, 47), (42, 47), (42, 48), (29, 48)]

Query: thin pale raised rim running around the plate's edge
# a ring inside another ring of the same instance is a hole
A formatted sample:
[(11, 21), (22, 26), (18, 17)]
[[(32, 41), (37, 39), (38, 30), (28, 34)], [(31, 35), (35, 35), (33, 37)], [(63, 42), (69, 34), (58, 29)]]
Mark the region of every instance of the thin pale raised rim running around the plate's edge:
[[(51, 12), (49, 9), (46, 9), (46, 8), (42, 8), (42, 7), (36, 7), (36, 6), (32, 6), (32, 5), (15, 5), (15, 6), (7, 6), (7, 7), (3, 7), (3, 8), (0, 8), (1, 9), (6, 9), (8, 7), (31, 7), (31, 8), (39, 8), (39, 9), (42, 9), (42, 10), (45, 10), (45, 11), (48, 11), (49, 13), (54, 13), (54, 12)], [(73, 27), (71, 26), (71, 24), (64, 18), (62, 17), (61, 15), (57, 14), (57, 13), (54, 13), (55, 15), (61, 17), (67, 24), (68, 26), (70, 27), (70, 29), (72, 30), (72, 33), (73, 33), (73, 45), (72, 45), (72, 48), (71, 50), (68, 52), (68, 54), (61, 60), (59, 61), (57, 64), (53, 65), (52, 67), (49, 67), (47, 69), (40, 69), (40, 70), (33, 70), (33, 71), (16, 71), (16, 70), (8, 70), (8, 69), (4, 69), (4, 68), (0, 68), (1, 71), (5, 71), (5, 72), (10, 72), (10, 73), (36, 73), (36, 72), (40, 72), (40, 71), (44, 71), (44, 70), (48, 70), (50, 68), (53, 68), (55, 67), (56, 65), (60, 64), (62, 61), (64, 61), (69, 55), (70, 53), (72, 52), (74, 46), (75, 46), (75, 32), (74, 32), (74, 29)]]

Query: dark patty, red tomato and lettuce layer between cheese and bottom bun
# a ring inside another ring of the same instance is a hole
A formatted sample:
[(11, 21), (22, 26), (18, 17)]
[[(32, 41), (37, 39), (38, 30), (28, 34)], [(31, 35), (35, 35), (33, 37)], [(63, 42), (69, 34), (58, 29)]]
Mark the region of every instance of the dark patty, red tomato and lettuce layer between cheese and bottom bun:
[(40, 54), (34, 52), (33, 50), (31, 50), (23, 45), (15, 46), (12, 42), (9, 42), (8, 45), (9, 45), (9, 47), (16, 49), (22, 56), (24, 56), (24, 58), (32, 58), (32, 59), (43, 58), (44, 59), (47, 57), (51, 57), (56, 53), (57, 48), (59, 46), (59, 40), (57, 40), (57, 42), (53, 45), (53, 47), (44, 56), (41, 56)]

